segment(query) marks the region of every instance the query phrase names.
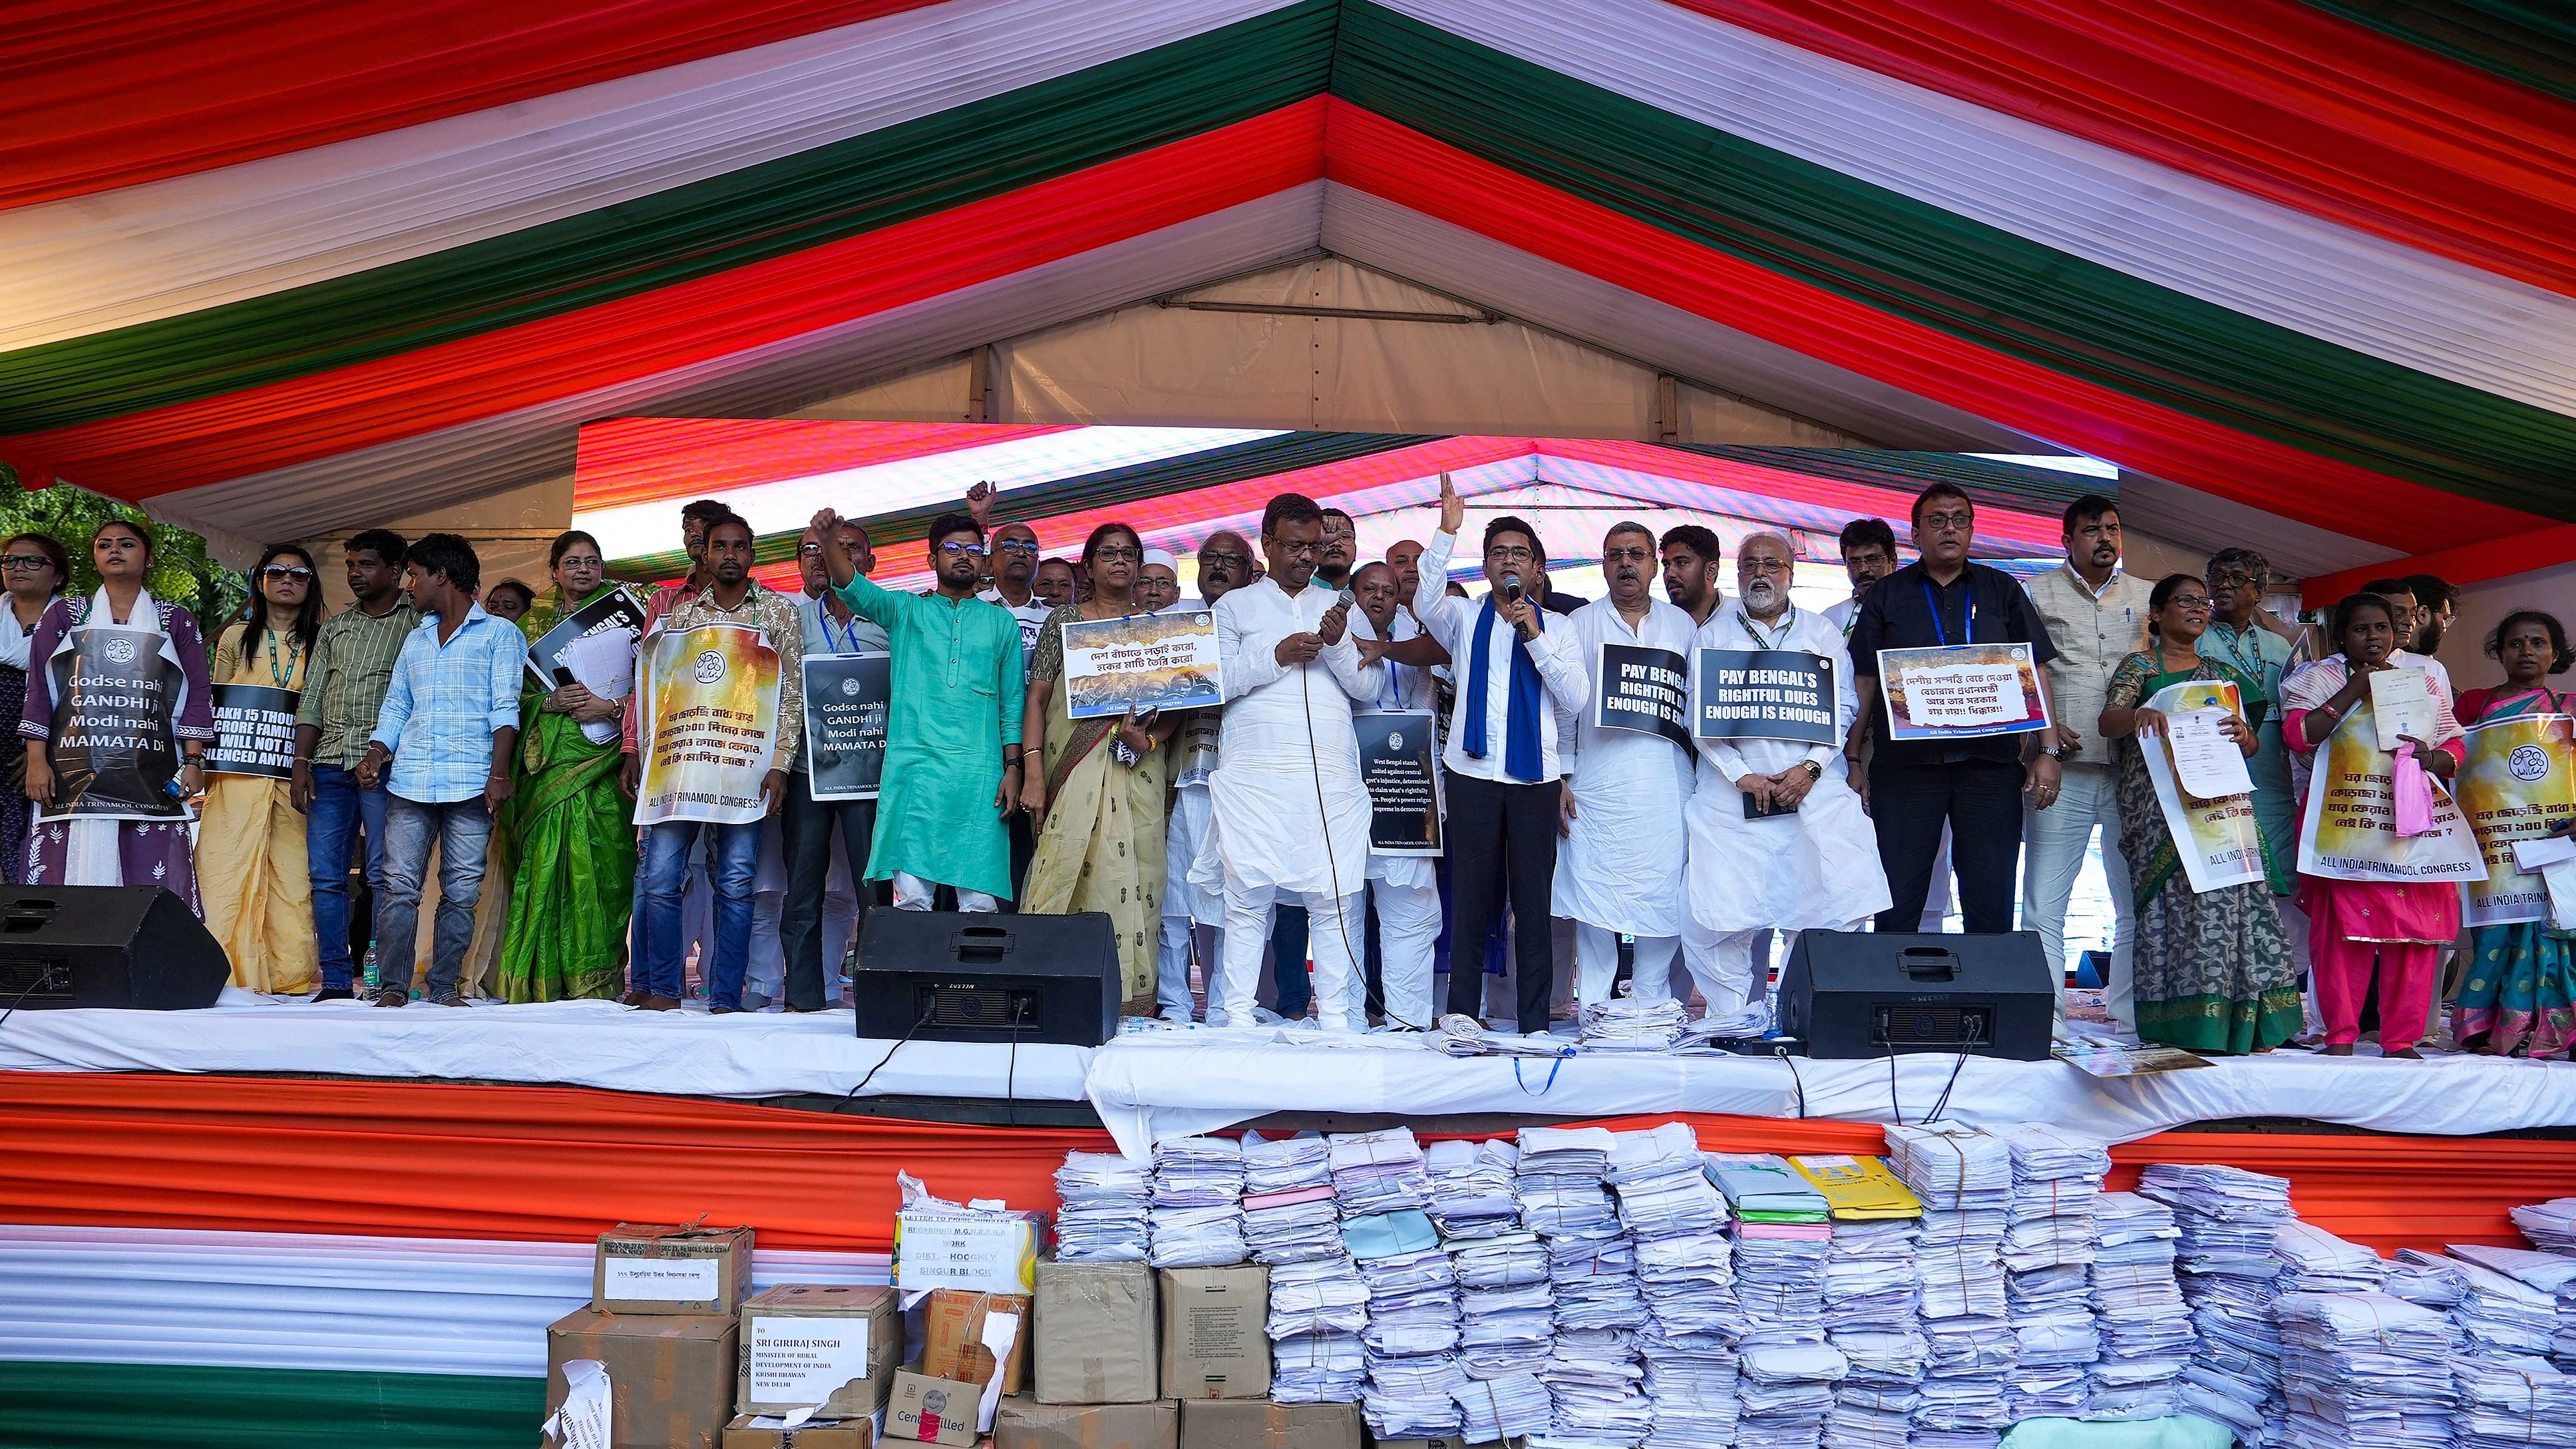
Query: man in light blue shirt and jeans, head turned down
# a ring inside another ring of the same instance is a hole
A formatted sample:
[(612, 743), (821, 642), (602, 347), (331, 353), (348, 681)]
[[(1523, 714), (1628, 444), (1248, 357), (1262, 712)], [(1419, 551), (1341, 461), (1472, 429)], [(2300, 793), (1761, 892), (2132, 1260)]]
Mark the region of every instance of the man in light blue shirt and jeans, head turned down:
[[(438, 843), (438, 928), (430, 1006), (464, 1006), (459, 977), (474, 941), (492, 815), (510, 799), (518, 753), (518, 683), (528, 637), (474, 603), (482, 559), (456, 534), (430, 534), (404, 554), (404, 590), (422, 624), (394, 657), (358, 784), (386, 784), (384, 892), (376, 897), (376, 1006), (410, 1006), (420, 882)], [(392, 768), (386, 768), (392, 766)]]

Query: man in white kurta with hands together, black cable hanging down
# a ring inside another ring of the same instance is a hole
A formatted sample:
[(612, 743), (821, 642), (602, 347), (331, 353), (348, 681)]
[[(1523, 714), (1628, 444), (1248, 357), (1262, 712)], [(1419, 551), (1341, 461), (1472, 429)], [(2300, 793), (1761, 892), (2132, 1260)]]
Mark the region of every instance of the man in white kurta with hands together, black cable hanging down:
[(1221, 1026), (1255, 1026), (1267, 913), (1293, 902), (1309, 913), (1319, 1024), (1355, 1029), (1370, 807), (1350, 712), (1378, 696), (1386, 665), (1360, 663), (1350, 608), (1314, 585), (1321, 536), (1314, 500), (1273, 498), (1262, 513), (1267, 578), (1216, 601), (1226, 727), (1208, 779), (1213, 861), (1203, 853), (1195, 874), (1226, 892), (1208, 993), (1208, 1021)]

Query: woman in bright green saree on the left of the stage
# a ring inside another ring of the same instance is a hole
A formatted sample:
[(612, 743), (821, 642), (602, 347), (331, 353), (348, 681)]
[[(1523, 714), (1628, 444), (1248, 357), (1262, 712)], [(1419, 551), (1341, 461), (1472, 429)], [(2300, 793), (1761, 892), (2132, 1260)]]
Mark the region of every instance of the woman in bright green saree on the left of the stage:
[[(518, 627), (533, 645), (567, 614), (608, 593), (600, 544), (572, 531), (549, 549), (554, 588)], [(626, 915), (634, 908), (636, 828), (618, 789), (623, 701), (577, 683), (518, 696), (518, 789), (507, 835), (518, 856), (510, 928), (500, 949), (502, 1000), (616, 998), (626, 975)], [(582, 724), (605, 740), (592, 740)]]

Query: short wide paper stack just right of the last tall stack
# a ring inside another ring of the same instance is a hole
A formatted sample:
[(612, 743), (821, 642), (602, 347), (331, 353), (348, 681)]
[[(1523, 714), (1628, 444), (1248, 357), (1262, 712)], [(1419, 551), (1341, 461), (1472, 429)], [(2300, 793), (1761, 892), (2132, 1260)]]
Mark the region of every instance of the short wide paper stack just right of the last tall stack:
[(2450, 1449), (2452, 1328), (2429, 1307), (2375, 1292), (2282, 1294), (2287, 1449)]

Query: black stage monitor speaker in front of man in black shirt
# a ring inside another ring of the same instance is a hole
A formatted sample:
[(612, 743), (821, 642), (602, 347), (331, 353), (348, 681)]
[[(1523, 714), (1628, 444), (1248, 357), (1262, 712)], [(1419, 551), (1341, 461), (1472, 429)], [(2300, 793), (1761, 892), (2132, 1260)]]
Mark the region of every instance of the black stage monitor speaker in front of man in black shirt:
[(2038, 1062), (2056, 1016), (2035, 931), (1801, 931), (1780, 972), (1780, 1031), (1806, 1036), (1808, 1057), (1976, 1052)]

